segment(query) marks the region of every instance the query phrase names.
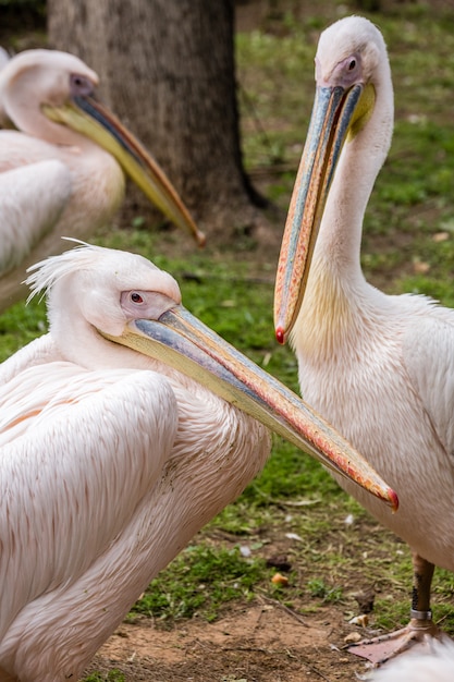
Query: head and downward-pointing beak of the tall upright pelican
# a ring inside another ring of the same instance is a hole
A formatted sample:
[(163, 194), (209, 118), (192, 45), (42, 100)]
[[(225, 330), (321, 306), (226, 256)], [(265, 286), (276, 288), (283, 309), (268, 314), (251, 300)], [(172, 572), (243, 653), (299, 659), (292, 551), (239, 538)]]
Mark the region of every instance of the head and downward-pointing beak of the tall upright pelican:
[[(389, 148), (393, 95), (386, 48), (378, 28), (360, 16), (348, 16), (332, 24), (320, 36), (316, 56), (316, 97), (309, 131), (289, 209), (274, 294), (275, 334), (284, 343), (292, 330), (309, 273), (327, 197), (338, 165), (347, 151), (366, 147), (366, 155), (355, 154), (355, 162), (365, 165), (363, 186), (351, 187), (357, 194), (356, 215), (363, 218), (365, 205)], [(390, 115), (391, 112), (391, 115)], [(368, 122), (380, 123), (382, 139), (368, 139)], [(351, 157), (353, 155), (351, 154)], [(343, 169), (348, 176), (347, 169)], [(368, 182), (373, 175), (372, 183)], [(342, 197), (336, 210), (342, 211)], [(346, 204), (346, 202), (344, 202)], [(360, 204), (360, 205), (359, 205)], [(335, 220), (331, 216), (332, 220)]]

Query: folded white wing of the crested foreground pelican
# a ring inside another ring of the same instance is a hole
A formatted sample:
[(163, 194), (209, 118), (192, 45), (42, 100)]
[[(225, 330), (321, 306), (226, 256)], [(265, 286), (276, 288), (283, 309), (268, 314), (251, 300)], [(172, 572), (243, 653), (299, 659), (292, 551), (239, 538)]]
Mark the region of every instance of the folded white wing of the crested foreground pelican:
[(1, 642), (27, 605), (39, 611), (75, 585), (124, 532), (160, 477), (177, 410), (152, 372), (56, 362), (4, 383), (0, 415)]

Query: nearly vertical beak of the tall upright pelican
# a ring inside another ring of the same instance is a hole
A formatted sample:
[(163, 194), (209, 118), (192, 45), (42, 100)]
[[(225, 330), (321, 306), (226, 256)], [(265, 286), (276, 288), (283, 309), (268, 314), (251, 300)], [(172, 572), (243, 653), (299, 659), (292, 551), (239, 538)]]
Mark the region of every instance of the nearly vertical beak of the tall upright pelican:
[(274, 328), (285, 343), (303, 302), (310, 261), (334, 171), (346, 139), (371, 114), (375, 88), (368, 84), (319, 86), (282, 239), (274, 290)]

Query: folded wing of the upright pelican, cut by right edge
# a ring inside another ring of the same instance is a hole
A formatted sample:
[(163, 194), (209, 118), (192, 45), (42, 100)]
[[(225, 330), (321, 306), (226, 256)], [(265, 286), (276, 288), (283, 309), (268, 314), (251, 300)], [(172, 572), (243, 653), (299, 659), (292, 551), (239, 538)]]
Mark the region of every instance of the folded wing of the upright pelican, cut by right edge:
[(416, 318), (404, 334), (403, 354), (437, 437), (454, 456), (454, 315), (451, 313), (433, 307), (432, 315)]

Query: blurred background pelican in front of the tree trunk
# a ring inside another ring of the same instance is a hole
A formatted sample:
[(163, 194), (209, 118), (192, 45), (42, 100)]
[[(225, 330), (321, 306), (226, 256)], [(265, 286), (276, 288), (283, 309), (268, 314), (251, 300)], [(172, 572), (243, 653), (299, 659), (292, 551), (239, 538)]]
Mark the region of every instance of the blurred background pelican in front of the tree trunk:
[(98, 76), (66, 52), (27, 50), (0, 70), (0, 312), (25, 297), (26, 268), (108, 224), (124, 174), (204, 243), (140, 143), (94, 99)]

